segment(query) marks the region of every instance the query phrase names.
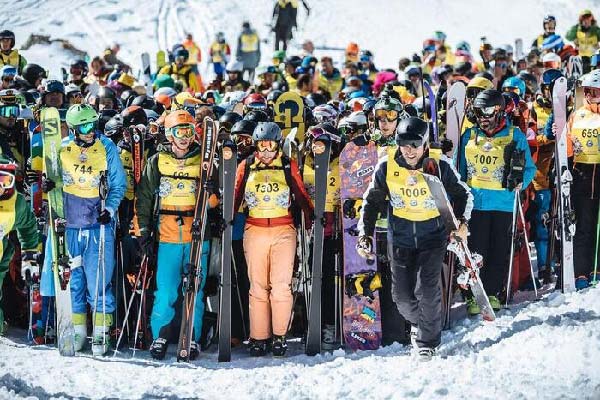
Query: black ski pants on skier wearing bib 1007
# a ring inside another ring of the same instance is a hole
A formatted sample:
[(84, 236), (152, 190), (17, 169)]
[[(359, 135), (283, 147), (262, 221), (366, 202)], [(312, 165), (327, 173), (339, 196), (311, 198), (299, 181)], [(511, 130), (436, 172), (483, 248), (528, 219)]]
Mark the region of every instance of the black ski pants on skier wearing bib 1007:
[(499, 296), (508, 281), (513, 214), (473, 210), (469, 249), (483, 257), (479, 276), (488, 296)]

